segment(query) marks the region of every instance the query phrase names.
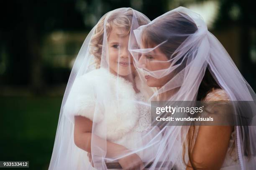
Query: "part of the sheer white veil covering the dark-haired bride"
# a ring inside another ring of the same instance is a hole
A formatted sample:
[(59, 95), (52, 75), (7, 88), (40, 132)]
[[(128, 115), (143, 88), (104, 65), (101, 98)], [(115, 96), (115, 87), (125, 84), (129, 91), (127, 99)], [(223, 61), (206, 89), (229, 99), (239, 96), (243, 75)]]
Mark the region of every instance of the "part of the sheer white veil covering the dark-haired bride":
[[(143, 69), (148, 85), (158, 87), (150, 100), (169, 103), (201, 100), (199, 92), (202, 90), (199, 89), (208, 72), (217, 83), (216, 87), (223, 89), (230, 101), (248, 101), (233, 104), (233, 114), (238, 115), (232, 123), (236, 133), (234, 150), (239, 169), (255, 169), (256, 94), (228, 52), (207, 30), (201, 16), (185, 7), (178, 7), (134, 30), (134, 35), (129, 41), (134, 63), (138, 70)], [(183, 144), (192, 123), (189, 126), (170, 123), (170, 126), (161, 128), (163, 138), (150, 169), (155, 169), (160, 159), (177, 168), (174, 165), (182, 156)], [(162, 153), (165, 153), (164, 158)]]

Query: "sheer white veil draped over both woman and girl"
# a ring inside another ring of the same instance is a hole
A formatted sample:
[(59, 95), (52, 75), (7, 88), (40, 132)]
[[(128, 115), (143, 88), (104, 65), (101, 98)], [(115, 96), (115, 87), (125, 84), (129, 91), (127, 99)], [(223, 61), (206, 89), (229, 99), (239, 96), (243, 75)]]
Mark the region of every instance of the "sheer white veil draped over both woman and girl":
[[(185, 25), (177, 30), (187, 22), (193, 29)], [(161, 34), (154, 37), (154, 32)], [(157, 41), (152, 44), (154, 38)], [(170, 46), (162, 48), (166, 44)], [(159, 49), (169, 54), (167, 60), (151, 57), (161, 56)], [(161, 67), (145, 68), (148, 63)], [(49, 169), (106, 170), (106, 163), (118, 162), (134, 153), (145, 166), (150, 165), (149, 170), (175, 168), (184, 151), (189, 126), (151, 125), (150, 102), (197, 100), (207, 69), (230, 100), (255, 101), (255, 92), (200, 15), (178, 7), (150, 22), (131, 8), (106, 13), (87, 35), (74, 62), (61, 104)], [(150, 87), (144, 74), (154, 77), (161, 87)], [(255, 109), (253, 103), (236, 107), (235, 111), (245, 115)], [(74, 139), (79, 116), (92, 122), (91, 132), (87, 133), (91, 133), (94, 167), (87, 151), (79, 148)], [(249, 118), (255, 125), (253, 115)], [(235, 126), (235, 132), (239, 168), (255, 169), (256, 128)], [(109, 142), (127, 150), (110, 148)], [(114, 156), (109, 156), (109, 150)]]

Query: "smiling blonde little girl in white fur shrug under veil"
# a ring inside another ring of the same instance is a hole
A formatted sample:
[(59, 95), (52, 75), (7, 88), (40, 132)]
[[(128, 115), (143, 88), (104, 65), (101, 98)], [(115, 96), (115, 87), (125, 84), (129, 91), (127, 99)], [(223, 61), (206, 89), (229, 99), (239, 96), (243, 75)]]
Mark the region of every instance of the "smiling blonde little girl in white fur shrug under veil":
[[(56, 135), (56, 140), (58, 135), (61, 139), (55, 141), (54, 148), (56, 143), (63, 146), (64, 140), (74, 138), (64, 142), (65, 158), (61, 149), (56, 156), (61, 159), (54, 159), (53, 153), (49, 169), (93, 169), (87, 153), (92, 153), (97, 169), (107, 169), (105, 162), (118, 162), (123, 169), (142, 169), (143, 161), (154, 160), (158, 146), (153, 144), (161, 140), (161, 133), (159, 128), (151, 127), (150, 107), (141, 104), (147, 102), (152, 91), (136, 71), (128, 52), (131, 30), (148, 22), (137, 11), (120, 8), (104, 15), (89, 33), (90, 40), (85, 40), (89, 48), (84, 47), (88, 52), (79, 54), (94, 58), (94, 65), (89, 64), (91, 59), (83, 59), (80, 68), (74, 64), (73, 69), (79, 70), (64, 103), (65, 116), (60, 117)], [(74, 123), (71, 130), (67, 121), (61, 123), (62, 118)], [(59, 128), (66, 130), (59, 133)], [(151, 147), (143, 148), (148, 143), (152, 143)], [(53, 159), (57, 161), (54, 163)]]

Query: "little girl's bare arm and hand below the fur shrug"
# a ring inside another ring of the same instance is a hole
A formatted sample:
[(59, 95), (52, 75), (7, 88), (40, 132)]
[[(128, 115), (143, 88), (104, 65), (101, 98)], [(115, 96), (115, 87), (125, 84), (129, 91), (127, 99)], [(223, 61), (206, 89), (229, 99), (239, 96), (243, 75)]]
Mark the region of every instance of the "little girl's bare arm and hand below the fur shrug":
[[(97, 135), (94, 135), (97, 145), (105, 144), (105, 140), (102, 140)], [(78, 148), (91, 153), (91, 140), (92, 140), (92, 121), (83, 116), (75, 116), (74, 125), (74, 143)], [(118, 156), (129, 153), (129, 150), (122, 145), (116, 143), (107, 142), (107, 154), (108, 158), (117, 158)], [(140, 168), (143, 169), (143, 163), (141, 158), (133, 153), (124, 158), (118, 160), (122, 168), (133, 169)]]

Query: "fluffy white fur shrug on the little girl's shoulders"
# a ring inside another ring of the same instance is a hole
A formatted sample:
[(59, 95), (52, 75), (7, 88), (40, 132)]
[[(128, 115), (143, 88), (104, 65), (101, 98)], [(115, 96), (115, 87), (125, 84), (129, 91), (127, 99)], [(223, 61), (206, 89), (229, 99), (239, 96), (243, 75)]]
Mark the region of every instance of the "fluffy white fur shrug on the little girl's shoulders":
[[(152, 91), (138, 76), (136, 87), (148, 98)], [(128, 133), (139, 118), (136, 92), (131, 82), (105, 69), (78, 76), (64, 105), (64, 114), (74, 121), (81, 115), (97, 123), (97, 135), (115, 141)], [(103, 132), (105, 131), (105, 133)]]

